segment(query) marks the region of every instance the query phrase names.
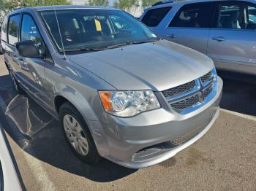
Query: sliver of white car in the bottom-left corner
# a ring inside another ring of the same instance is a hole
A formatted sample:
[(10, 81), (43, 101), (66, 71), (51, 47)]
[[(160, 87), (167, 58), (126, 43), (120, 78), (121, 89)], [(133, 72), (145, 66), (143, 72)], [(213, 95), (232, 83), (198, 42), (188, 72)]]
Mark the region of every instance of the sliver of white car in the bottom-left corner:
[(20, 191), (20, 182), (0, 125), (0, 191)]

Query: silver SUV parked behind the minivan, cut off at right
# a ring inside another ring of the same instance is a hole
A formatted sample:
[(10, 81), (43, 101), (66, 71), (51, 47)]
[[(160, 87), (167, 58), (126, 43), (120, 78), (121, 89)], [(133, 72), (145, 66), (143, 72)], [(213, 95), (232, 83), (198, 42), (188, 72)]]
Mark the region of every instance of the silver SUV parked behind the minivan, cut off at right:
[(217, 69), (256, 74), (255, 0), (176, 1), (140, 18), (164, 39), (208, 55)]

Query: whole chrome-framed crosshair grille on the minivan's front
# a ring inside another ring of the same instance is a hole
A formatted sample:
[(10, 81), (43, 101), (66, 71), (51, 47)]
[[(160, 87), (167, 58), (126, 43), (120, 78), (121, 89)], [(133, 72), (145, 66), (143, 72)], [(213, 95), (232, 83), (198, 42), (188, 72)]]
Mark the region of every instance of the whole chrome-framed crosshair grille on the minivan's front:
[[(189, 83), (192, 85), (195, 84), (194, 87), (188, 88), (189, 90), (181, 88), (189, 87)], [(181, 90), (181, 93), (178, 93), (177, 90)], [(180, 114), (188, 114), (208, 103), (208, 101), (216, 95), (217, 73), (215, 69), (213, 69), (203, 75), (203, 77), (195, 79), (192, 82), (188, 82), (187, 84), (179, 85), (178, 88), (173, 87), (171, 89), (164, 90), (162, 93), (174, 111)]]

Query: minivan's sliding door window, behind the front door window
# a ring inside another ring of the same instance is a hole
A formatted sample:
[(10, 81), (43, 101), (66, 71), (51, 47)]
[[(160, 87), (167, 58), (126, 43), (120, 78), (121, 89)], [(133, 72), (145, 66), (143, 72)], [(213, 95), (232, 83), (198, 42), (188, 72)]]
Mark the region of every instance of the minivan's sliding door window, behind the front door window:
[(8, 24), (8, 42), (14, 45), (18, 42), (18, 28), (20, 23), (20, 15), (11, 16)]

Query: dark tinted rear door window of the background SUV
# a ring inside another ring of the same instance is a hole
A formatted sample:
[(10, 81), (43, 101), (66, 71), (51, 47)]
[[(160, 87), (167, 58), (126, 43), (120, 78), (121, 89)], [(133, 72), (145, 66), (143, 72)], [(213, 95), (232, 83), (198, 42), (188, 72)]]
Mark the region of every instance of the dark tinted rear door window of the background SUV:
[(169, 27), (210, 28), (214, 4), (187, 4), (178, 11)]

